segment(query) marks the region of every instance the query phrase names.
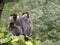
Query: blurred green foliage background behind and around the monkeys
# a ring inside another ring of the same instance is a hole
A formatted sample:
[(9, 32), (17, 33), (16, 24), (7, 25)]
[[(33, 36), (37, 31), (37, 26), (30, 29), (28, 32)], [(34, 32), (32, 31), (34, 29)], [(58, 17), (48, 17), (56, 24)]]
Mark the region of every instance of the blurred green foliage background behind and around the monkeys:
[[(38, 40), (36, 45), (39, 40), (42, 45), (60, 45), (60, 0), (6, 0), (0, 21), (0, 39), (10, 38), (8, 17), (14, 12), (21, 15), (24, 11), (30, 14), (33, 24), (30, 37)], [(18, 45), (15, 43), (13, 45)]]

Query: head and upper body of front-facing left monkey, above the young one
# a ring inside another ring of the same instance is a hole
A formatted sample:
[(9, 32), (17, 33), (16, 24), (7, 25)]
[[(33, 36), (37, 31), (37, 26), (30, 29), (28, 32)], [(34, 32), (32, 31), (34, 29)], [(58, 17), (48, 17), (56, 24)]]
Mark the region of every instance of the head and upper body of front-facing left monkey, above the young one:
[(17, 15), (16, 13), (11, 14), (9, 19), (8, 19), (8, 25), (11, 22), (14, 22), (16, 25), (20, 25), (20, 16)]

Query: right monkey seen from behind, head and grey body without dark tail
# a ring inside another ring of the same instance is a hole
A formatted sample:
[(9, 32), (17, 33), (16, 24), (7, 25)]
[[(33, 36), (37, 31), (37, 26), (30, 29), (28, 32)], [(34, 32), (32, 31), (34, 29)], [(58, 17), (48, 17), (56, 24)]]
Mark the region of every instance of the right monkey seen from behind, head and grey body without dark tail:
[(24, 12), (22, 14), (22, 21), (23, 21), (23, 29), (24, 29), (24, 33), (25, 35), (29, 36), (31, 33), (31, 21), (30, 21), (30, 17), (29, 17), (29, 13), (28, 12)]

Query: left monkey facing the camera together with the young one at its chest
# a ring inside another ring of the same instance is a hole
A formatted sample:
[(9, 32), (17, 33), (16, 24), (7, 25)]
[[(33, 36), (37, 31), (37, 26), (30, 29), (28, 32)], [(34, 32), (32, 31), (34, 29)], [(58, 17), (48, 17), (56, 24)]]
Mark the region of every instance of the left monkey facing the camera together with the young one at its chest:
[(13, 35), (23, 34), (22, 28), (20, 25), (20, 16), (16, 13), (10, 15), (8, 19), (8, 29)]

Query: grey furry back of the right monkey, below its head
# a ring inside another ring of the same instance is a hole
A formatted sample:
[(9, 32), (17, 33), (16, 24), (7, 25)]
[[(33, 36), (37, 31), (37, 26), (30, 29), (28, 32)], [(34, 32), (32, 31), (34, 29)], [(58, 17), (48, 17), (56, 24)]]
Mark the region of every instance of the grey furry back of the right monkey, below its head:
[(23, 31), (24, 35), (29, 36), (31, 33), (31, 25), (30, 25), (29, 21), (26, 18), (22, 18), (21, 22), (22, 22), (21, 24), (22, 24), (22, 28), (23, 28), (22, 31)]

